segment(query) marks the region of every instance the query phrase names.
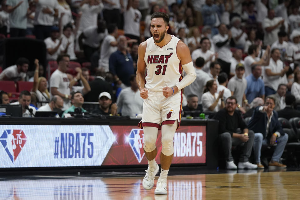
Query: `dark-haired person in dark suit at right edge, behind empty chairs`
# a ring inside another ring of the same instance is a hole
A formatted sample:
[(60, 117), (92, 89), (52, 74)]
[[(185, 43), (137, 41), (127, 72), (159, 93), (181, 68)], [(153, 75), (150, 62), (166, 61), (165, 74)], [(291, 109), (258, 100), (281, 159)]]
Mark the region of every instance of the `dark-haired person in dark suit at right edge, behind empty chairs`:
[(290, 118), (300, 117), (300, 111), (294, 109), (294, 104), (296, 102), (296, 98), (292, 94), (288, 94), (285, 97), (286, 107), (280, 111), (278, 111), (279, 118), (286, 118), (289, 120)]

